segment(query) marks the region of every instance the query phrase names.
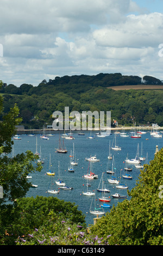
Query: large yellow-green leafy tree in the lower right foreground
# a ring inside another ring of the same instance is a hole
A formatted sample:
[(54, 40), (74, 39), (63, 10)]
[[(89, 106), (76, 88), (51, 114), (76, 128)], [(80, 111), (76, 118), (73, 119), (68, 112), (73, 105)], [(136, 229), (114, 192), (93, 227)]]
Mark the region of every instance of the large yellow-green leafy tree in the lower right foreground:
[[(163, 245), (163, 148), (145, 164), (130, 200), (113, 207), (91, 227), (110, 245)], [(160, 191), (161, 190), (161, 191)]]

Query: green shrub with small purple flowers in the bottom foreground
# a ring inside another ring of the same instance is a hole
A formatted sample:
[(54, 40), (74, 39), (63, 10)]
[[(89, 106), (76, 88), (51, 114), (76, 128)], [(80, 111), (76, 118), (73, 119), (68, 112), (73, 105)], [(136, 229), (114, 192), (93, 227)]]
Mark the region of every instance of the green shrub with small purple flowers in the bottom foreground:
[(93, 237), (81, 225), (59, 220), (53, 223), (53, 228), (46, 225), (35, 228), (26, 237), (18, 237), (16, 245), (108, 245), (108, 241)]

